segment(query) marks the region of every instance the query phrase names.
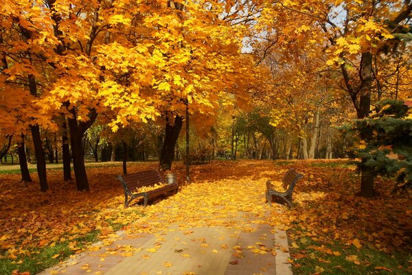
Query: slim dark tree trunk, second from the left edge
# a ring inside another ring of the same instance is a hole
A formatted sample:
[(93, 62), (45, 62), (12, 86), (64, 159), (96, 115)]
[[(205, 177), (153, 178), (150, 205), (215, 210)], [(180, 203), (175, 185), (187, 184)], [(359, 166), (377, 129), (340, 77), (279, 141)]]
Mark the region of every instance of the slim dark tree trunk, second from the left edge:
[(43, 151), (43, 146), (41, 145), (40, 128), (38, 125), (30, 126), (32, 130), (32, 139), (34, 144), (34, 153), (36, 155), (36, 167), (38, 173), (38, 181), (40, 181), (40, 190), (45, 192), (49, 189), (49, 184), (47, 184), (47, 173), (46, 173), (46, 159), (45, 151)]

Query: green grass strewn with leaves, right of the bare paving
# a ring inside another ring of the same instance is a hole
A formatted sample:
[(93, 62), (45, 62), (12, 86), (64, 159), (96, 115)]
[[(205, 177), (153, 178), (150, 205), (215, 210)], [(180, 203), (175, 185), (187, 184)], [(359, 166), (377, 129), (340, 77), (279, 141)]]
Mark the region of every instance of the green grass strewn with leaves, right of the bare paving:
[[(350, 261), (353, 255), (358, 259), (356, 263)], [(412, 256), (408, 252), (385, 253), (371, 245), (357, 249), (353, 245), (347, 246), (336, 242), (322, 244), (306, 237), (290, 241), (290, 257), (293, 260), (293, 274), (299, 275), (317, 272), (325, 275), (402, 275), (412, 272), (407, 270), (412, 261)]]

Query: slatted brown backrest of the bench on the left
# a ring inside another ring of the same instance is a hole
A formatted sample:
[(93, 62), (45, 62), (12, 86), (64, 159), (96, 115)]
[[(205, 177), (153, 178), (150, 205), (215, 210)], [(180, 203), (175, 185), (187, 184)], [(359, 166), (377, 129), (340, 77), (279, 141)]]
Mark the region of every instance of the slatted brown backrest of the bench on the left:
[(159, 182), (165, 182), (158, 170), (147, 170), (134, 174), (117, 176), (117, 178), (120, 179), (124, 187), (126, 187), (129, 191), (134, 191), (136, 188), (140, 188), (142, 186), (151, 186)]

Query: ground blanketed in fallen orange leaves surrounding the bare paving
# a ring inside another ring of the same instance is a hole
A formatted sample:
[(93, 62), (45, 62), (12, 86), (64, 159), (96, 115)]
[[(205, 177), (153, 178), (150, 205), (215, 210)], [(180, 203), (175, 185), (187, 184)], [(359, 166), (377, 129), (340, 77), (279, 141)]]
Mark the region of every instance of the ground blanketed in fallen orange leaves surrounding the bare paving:
[[(120, 228), (156, 233), (172, 223), (182, 229), (233, 226), (225, 219), (239, 211), (251, 213), (251, 222), (288, 230), (295, 274), (412, 272), (411, 198), (389, 195), (393, 182), (386, 179), (377, 180), (373, 199), (356, 196), (359, 177), (346, 161), (241, 160), (192, 166), (192, 184), (177, 195), (147, 208), (126, 209), (115, 179), (122, 167), (90, 165), (90, 192), (78, 192), (75, 184), (63, 182), (57, 169), (48, 171), (47, 192), (38, 190), (38, 182), (19, 183), (18, 174), (0, 175), (0, 274), (34, 274), (70, 254), (90, 250), (95, 241), (111, 243)], [(134, 163), (128, 170), (157, 166)], [(266, 179), (281, 179), (288, 168), (304, 174), (295, 188), (295, 207), (269, 208), (264, 201)], [(176, 163), (174, 173), (183, 182), (183, 164)], [(247, 224), (236, 226), (249, 230)]]

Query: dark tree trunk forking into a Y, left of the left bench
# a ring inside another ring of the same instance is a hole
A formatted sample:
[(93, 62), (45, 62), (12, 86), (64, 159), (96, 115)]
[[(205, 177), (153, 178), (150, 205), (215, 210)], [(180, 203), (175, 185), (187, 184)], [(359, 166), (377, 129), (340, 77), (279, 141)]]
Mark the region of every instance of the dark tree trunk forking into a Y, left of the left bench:
[(83, 153), (83, 135), (87, 129), (93, 124), (98, 116), (95, 109), (91, 110), (89, 114), (89, 121), (78, 122), (76, 119), (76, 111), (71, 110), (73, 118), (69, 118), (69, 131), (70, 131), (70, 144), (71, 152), (73, 154), (73, 170), (76, 177), (76, 186), (78, 191), (89, 191), (89, 179), (87, 179), (86, 167), (84, 166), (84, 153)]

